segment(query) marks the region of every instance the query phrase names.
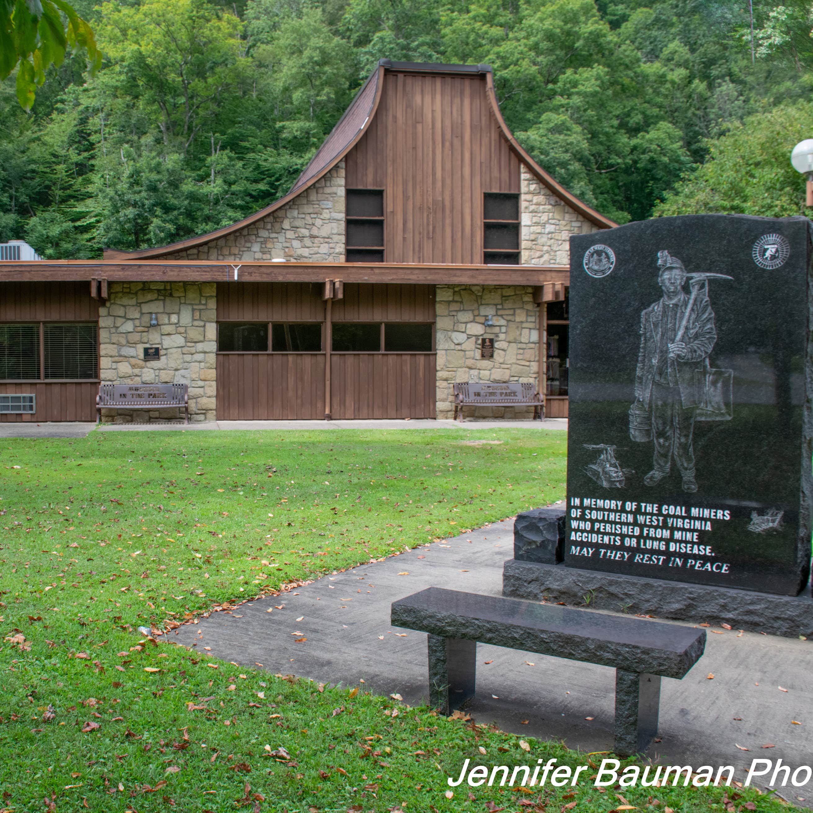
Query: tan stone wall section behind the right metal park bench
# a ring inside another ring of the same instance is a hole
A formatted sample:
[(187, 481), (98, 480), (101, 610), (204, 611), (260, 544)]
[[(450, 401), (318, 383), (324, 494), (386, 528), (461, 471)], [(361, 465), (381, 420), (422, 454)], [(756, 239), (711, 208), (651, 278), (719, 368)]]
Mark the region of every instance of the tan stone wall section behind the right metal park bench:
[[(536, 381), (539, 309), (526, 285), (438, 285), (437, 418), (454, 414), (455, 381)], [(491, 316), (493, 327), (485, 326)], [(480, 337), (494, 339), (493, 359), (480, 359)], [(533, 406), (467, 406), (465, 416), (529, 419)]]

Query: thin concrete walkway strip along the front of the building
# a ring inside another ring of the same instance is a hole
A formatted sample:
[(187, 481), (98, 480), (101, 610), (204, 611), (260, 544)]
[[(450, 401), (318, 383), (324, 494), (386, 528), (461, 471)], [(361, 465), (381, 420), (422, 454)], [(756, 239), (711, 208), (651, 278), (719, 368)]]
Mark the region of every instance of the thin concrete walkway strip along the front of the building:
[(147, 432), (182, 429), (203, 430), (273, 429), (567, 429), (567, 418), (543, 420), (215, 420), (200, 424), (101, 424), (102, 432)]

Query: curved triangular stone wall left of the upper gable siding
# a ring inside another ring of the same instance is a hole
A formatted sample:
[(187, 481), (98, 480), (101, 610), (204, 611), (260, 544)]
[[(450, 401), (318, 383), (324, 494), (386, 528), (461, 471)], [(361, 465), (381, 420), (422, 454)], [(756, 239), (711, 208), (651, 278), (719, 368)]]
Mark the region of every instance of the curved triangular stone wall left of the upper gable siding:
[(345, 259), (345, 163), (305, 189), (285, 207), (227, 237), (195, 246), (166, 259), (288, 259), (341, 263)]

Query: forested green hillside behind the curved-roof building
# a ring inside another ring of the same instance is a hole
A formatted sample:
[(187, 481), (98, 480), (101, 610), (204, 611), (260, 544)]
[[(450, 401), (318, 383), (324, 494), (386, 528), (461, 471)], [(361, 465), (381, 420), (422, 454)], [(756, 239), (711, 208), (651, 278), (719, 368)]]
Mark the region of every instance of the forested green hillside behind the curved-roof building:
[[(163, 245), (285, 193), (377, 60), (489, 63), (507, 123), (619, 221), (802, 212), (811, 2), (76, 0), (103, 51), (0, 84), (0, 241)], [(753, 55), (752, 55), (753, 45)]]

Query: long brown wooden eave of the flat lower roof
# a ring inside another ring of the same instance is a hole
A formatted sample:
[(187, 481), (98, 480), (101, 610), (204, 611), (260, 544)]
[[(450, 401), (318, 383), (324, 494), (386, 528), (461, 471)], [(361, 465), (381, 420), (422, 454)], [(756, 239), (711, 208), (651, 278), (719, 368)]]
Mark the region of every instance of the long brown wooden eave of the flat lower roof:
[(0, 262), (0, 283), (101, 280), (108, 282), (315, 282), (401, 285), (569, 284), (567, 266), (421, 265), (417, 263), (223, 263), (185, 260), (39, 260)]

